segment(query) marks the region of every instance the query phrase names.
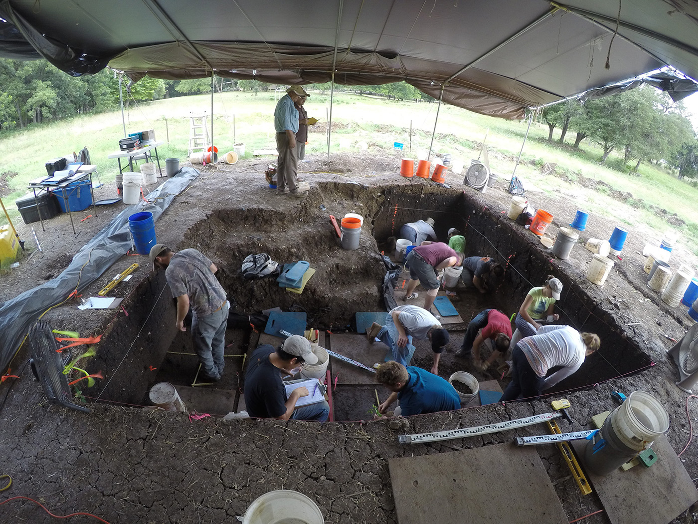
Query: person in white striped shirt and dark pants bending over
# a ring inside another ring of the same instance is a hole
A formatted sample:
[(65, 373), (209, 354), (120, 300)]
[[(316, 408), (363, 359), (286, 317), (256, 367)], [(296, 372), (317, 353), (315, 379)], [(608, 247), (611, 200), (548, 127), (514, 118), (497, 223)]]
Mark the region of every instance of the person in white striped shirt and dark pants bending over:
[[(542, 326), (512, 350), (512, 381), (500, 401), (535, 400), (543, 390), (576, 372), (600, 345), (595, 333), (579, 333), (570, 326)], [(546, 377), (558, 366), (559, 370)]]

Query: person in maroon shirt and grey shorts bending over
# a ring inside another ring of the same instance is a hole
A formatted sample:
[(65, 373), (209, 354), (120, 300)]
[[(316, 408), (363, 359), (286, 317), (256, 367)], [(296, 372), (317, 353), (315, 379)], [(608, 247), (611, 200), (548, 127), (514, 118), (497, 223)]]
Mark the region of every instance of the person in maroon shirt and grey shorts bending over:
[(422, 242), (407, 256), (406, 263), (410, 268), (410, 282), (405, 290), (405, 300), (413, 300), (419, 296), (415, 293), (417, 284), (426, 288), (424, 309), (429, 311), (434, 303), (434, 298), (441, 287), (437, 273), (444, 268), (461, 265), (463, 254), (456, 253), (443, 242)]

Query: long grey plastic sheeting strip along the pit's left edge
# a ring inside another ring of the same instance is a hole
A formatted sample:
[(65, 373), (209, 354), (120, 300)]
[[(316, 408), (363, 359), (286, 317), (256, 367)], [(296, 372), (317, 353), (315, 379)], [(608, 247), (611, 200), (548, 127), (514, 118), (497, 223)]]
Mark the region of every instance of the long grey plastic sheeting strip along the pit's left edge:
[[(73, 256), (70, 265), (56, 278), (8, 300), (0, 307), (0, 370), (5, 370), (22, 344), (29, 327), (49, 307), (61, 303), (74, 289), (81, 291), (101, 277), (114, 262), (131, 249), (128, 217), (140, 211), (149, 211), (157, 221), (174, 197), (184, 191), (199, 172), (182, 168), (179, 174), (165, 181), (148, 194), (147, 201), (126, 208), (114, 217), (102, 231), (94, 235)], [(84, 266), (84, 267), (83, 267)]]

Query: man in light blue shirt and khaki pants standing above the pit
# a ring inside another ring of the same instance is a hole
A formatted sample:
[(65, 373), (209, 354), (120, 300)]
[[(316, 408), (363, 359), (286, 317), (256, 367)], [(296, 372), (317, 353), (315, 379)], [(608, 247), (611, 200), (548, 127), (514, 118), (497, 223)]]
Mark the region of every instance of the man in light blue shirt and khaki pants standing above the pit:
[[(286, 89), (287, 94), (279, 99), (274, 110), (274, 129), (276, 129), (276, 194), (287, 194), (297, 198), (308, 195), (308, 191), (298, 189), (298, 154), (296, 133), (298, 131), (298, 110), (294, 103), (301, 96), (310, 96), (299, 85)], [(287, 191), (288, 189), (288, 191)]]

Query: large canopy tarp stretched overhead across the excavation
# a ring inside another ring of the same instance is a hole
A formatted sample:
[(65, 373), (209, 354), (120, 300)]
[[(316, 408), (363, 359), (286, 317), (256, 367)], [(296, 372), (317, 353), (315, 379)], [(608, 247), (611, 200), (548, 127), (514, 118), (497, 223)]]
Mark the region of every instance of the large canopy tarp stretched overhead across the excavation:
[(698, 78), (694, 0), (2, 0), (0, 17), (0, 56), (36, 50), (72, 75), (307, 84), (334, 71), (437, 98), (443, 86), (447, 103), (509, 118), (664, 66)]

